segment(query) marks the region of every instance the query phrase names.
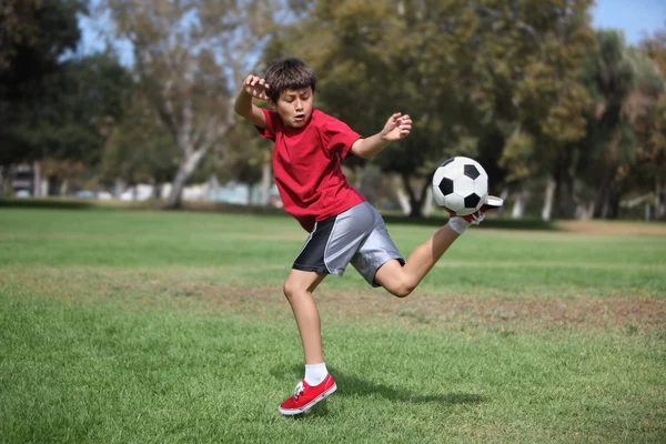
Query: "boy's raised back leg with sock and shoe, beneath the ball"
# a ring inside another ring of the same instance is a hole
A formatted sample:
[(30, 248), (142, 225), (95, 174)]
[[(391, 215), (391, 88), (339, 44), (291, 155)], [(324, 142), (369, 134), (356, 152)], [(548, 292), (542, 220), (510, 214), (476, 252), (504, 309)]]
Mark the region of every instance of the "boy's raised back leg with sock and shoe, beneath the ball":
[(375, 280), (391, 294), (398, 297), (407, 296), (467, 226), (477, 225), (483, 221), (486, 212), (501, 208), (503, 203), (502, 199), (488, 195), (476, 213), (465, 216), (452, 214), (448, 223), (418, 245), (404, 265), (396, 260), (389, 261), (377, 270)]

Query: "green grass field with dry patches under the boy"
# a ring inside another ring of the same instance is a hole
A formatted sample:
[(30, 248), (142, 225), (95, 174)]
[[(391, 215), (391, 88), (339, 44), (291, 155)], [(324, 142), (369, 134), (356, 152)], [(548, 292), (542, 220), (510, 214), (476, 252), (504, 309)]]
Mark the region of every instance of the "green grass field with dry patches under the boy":
[(666, 442), (666, 226), (492, 226), (404, 300), (324, 281), (339, 390), (293, 418), (293, 220), (0, 208), (0, 442)]

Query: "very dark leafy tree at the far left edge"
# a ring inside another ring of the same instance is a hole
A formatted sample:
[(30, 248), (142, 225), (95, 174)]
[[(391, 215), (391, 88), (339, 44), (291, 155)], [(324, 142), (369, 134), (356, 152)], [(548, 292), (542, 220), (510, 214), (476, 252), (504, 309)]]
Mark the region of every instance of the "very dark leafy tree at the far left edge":
[(0, 6), (0, 165), (44, 154), (44, 95), (80, 38), (82, 0), (8, 0)]

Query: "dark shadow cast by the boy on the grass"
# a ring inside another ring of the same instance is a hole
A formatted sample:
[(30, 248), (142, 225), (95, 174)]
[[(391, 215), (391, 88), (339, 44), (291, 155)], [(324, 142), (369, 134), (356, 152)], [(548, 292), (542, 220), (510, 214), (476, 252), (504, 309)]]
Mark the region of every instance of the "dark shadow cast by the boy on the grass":
[[(440, 403), (440, 404), (476, 404), (485, 402), (486, 397), (476, 393), (415, 393), (413, 391), (386, 384), (374, 383), (357, 376), (345, 374), (335, 367), (330, 367), (335, 379), (337, 391), (335, 396), (382, 396), (385, 400), (406, 403)], [(292, 376), (294, 381), (303, 377), (303, 367), (295, 365), (290, 369), (273, 369), (271, 374), (280, 380)], [(322, 402), (309, 412), (309, 415), (325, 414), (326, 404)], [(297, 415), (302, 416), (302, 415)]]

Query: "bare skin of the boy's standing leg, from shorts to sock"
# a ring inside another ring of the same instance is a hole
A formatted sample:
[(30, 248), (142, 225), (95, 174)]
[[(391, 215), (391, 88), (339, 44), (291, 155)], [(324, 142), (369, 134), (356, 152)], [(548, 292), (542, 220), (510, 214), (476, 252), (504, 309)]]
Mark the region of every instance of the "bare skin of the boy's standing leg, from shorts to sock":
[(305, 364), (324, 362), (320, 315), (312, 292), (325, 276), (326, 274), (313, 271), (292, 270), (284, 282), (284, 295), (301, 333)]

